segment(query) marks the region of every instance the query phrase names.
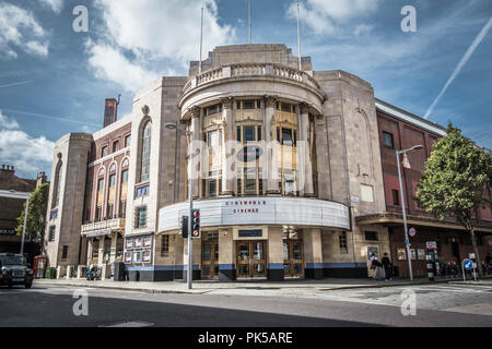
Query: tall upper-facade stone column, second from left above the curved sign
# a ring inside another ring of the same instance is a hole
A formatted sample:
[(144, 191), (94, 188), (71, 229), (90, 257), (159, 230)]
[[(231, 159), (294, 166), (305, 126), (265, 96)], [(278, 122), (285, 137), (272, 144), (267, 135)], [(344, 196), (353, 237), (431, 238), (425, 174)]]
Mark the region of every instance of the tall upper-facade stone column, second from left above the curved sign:
[(232, 196), (234, 171), (232, 169), (233, 161), (233, 97), (221, 99), (222, 103), (222, 195)]

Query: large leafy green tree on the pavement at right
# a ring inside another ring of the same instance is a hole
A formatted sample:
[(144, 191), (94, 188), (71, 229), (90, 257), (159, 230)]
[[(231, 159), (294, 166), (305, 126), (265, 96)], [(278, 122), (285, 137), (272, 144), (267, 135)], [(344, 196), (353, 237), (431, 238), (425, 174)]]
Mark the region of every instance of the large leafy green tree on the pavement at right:
[(455, 217), (471, 236), (480, 276), (480, 255), (472, 214), (479, 207), (490, 207), (492, 156), (448, 125), (446, 135), (434, 145), (417, 189), (417, 202), (440, 219)]

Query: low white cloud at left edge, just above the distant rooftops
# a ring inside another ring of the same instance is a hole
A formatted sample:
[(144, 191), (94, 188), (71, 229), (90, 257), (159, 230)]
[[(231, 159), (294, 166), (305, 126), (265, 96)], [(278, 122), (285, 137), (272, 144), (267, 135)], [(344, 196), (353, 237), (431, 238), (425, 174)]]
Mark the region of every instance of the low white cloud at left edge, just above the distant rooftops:
[(0, 110), (0, 158), (15, 166), (21, 176), (34, 177), (40, 170), (49, 170), (55, 143), (45, 136), (37, 139), (19, 130), (15, 120)]

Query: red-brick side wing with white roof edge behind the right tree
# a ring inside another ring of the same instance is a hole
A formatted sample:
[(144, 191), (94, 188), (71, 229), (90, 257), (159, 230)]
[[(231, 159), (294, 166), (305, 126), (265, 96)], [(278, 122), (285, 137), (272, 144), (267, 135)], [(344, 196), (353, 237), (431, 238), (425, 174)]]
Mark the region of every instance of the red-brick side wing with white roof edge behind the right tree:
[[(385, 185), (386, 213), (368, 217), (359, 217), (359, 224), (384, 224), (388, 227), (390, 254), (400, 276), (408, 275), (408, 260), (402, 226), (401, 195), (398, 181), (396, 151), (423, 145), (422, 149), (408, 153), (410, 168), (401, 166), (403, 194), (409, 228), (417, 230), (417, 237), (410, 239), (412, 269), (415, 276), (426, 275), (425, 242), (437, 243), (440, 262), (460, 263), (473, 253), (470, 234), (459, 222), (449, 218), (441, 221), (417, 205), (415, 190), (425, 160), (433, 151), (433, 144), (445, 134), (445, 128), (430, 122), (408, 111), (394, 107), (383, 100), (376, 100), (377, 124)], [(479, 253), (483, 260), (492, 252), (492, 210), (481, 208), (473, 215), (477, 225)], [(371, 233), (370, 233), (371, 234)]]

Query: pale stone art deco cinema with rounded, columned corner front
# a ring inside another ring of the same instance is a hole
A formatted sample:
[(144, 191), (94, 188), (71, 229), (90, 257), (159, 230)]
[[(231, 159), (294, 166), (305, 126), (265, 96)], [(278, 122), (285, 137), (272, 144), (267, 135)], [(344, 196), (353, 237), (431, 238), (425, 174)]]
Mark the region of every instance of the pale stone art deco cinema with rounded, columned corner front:
[(104, 129), (57, 142), (50, 265), (109, 277), (124, 261), (131, 280), (183, 278), (191, 173), (194, 278), (366, 277), (367, 248), (389, 252), (387, 227), (366, 241), (355, 220), (386, 208), (372, 86), (308, 57), (298, 70), (284, 45), (218, 47), (198, 69), (153, 82), (120, 120), (107, 99)]

